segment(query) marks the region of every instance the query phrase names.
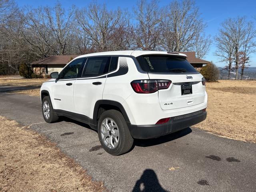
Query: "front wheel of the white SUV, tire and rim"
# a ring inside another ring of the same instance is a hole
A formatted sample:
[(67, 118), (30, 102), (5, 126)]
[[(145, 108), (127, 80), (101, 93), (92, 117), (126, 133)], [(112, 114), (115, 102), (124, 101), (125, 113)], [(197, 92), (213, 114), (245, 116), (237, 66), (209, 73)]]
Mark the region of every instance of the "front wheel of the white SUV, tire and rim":
[(42, 100), (42, 114), (47, 123), (54, 123), (59, 119), (59, 117), (54, 113), (49, 96), (45, 96)]

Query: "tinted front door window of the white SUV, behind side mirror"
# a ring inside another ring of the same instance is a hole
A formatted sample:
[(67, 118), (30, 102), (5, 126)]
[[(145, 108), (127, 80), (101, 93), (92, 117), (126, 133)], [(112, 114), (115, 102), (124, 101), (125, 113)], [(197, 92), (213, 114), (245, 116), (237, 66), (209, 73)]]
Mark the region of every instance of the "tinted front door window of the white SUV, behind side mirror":
[(62, 72), (60, 73), (61, 79), (70, 79), (76, 78), (79, 71), (81, 70), (81, 66), (84, 62), (84, 58), (77, 59), (71, 62), (68, 66), (66, 66)]

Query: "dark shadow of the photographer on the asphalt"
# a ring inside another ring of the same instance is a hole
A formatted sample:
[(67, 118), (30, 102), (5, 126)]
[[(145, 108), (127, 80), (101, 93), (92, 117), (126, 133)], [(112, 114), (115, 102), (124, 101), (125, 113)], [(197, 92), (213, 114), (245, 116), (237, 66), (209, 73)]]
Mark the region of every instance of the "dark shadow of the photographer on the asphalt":
[(144, 170), (142, 176), (137, 180), (132, 192), (168, 192), (158, 182), (156, 173), (152, 169)]

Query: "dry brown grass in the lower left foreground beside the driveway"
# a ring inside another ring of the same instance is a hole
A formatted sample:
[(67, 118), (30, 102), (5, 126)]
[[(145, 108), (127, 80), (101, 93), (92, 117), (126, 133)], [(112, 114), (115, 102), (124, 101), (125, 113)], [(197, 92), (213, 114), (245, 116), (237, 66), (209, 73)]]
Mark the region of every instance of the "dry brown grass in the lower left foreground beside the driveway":
[(104, 191), (43, 136), (0, 116), (0, 191)]

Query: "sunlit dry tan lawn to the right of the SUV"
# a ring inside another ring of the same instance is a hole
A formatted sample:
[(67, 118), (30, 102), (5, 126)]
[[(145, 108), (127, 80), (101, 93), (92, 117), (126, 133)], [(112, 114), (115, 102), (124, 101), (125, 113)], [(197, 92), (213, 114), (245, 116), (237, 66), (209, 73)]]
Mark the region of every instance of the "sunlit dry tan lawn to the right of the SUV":
[(208, 116), (198, 128), (256, 143), (256, 81), (206, 83)]

